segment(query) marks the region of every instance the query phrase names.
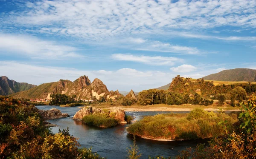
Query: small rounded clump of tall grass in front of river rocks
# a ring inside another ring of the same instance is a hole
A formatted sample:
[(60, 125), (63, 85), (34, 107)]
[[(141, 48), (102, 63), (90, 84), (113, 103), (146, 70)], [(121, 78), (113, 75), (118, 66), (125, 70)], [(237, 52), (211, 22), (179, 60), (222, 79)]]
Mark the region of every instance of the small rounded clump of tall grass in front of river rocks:
[(117, 120), (104, 114), (91, 114), (84, 116), (82, 121), (85, 124), (97, 127), (110, 128), (117, 125)]

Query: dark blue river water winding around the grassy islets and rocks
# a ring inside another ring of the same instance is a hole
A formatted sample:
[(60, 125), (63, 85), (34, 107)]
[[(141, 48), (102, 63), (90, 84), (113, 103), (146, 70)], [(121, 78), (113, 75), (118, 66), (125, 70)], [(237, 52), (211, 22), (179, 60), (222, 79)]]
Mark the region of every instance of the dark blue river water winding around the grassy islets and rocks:
[[(61, 119), (49, 119), (48, 122), (58, 125), (58, 127), (52, 127), (52, 133), (58, 133), (58, 129), (69, 128), (69, 132), (78, 139), (78, 142), (82, 147), (92, 147), (93, 152), (97, 152), (102, 157), (108, 159), (125, 159), (127, 158), (127, 148), (133, 144), (133, 136), (128, 135), (126, 128), (128, 125), (117, 125), (113, 128), (97, 128), (89, 125), (84, 125), (81, 121), (76, 121), (72, 118), (77, 111), (81, 108), (78, 107), (58, 107), (42, 105), (36, 106), (39, 109), (49, 110), (51, 108), (57, 108), (62, 113), (70, 115), (68, 118)], [(127, 115), (135, 117), (135, 120), (143, 118), (143, 116), (170, 113), (169, 111), (145, 111), (145, 112), (125, 112)], [(188, 113), (187, 111), (172, 111), (172, 113)], [(228, 112), (228, 114), (233, 112)], [(160, 156), (175, 156), (180, 150), (186, 148), (195, 148), (199, 143), (206, 143), (207, 139), (193, 140), (193, 141), (153, 141), (148, 139), (136, 138), (137, 146), (142, 153), (141, 159), (148, 159), (148, 156), (155, 157)]]

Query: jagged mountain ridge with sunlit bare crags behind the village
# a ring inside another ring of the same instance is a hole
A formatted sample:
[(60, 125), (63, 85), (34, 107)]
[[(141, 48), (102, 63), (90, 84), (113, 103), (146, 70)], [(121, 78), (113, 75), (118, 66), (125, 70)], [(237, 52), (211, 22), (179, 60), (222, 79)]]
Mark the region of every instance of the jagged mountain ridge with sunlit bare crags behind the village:
[(115, 99), (122, 96), (118, 90), (108, 91), (107, 86), (99, 79), (90, 82), (87, 76), (81, 76), (74, 82), (70, 80), (59, 80), (58, 82), (44, 83), (27, 91), (17, 92), (11, 96), (14, 98), (50, 99), (51, 94), (76, 95), (77, 99), (87, 100), (96, 97)]

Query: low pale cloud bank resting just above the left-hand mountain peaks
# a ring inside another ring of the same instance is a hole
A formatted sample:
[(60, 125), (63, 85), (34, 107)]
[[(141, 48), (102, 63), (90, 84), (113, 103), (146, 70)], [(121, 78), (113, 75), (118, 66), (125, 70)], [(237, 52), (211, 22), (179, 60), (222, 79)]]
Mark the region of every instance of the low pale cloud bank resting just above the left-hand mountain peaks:
[(46, 67), (30, 65), (15, 61), (0, 61), (0, 76), (7, 76), (17, 82), (41, 84), (55, 82), (60, 79), (74, 81), (80, 76), (86, 75), (91, 81), (95, 78), (102, 80), (109, 90), (142, 91), (144, 89), (157, 88), (172, 82), (177, 74), (169, 74), (161, 71), (138, 71), (132, 68), (121, 68), (115, 71), (105, 70), (77, 70), (74, 68)]

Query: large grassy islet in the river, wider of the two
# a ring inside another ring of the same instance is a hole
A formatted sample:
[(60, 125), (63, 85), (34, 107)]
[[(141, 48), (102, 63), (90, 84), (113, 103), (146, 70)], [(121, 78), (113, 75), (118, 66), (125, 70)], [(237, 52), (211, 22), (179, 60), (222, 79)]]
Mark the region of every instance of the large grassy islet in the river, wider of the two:
[(223, 125), (218, 124), (225, 119), (227, 130), (234, 131), (233, 124), (237, 116), (215, 114), (196, 108), (189, 114), (158, 114), (145, 116), (128, 127), (128, 133), (150, 139), (190, 140), (205, 139), (225, 134)]

